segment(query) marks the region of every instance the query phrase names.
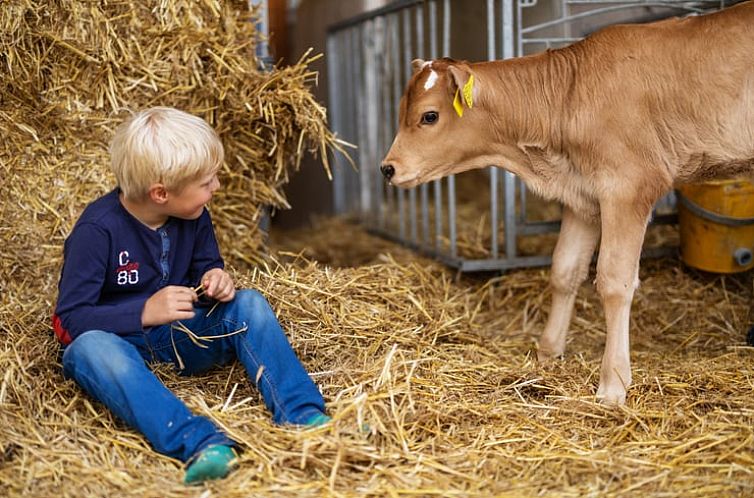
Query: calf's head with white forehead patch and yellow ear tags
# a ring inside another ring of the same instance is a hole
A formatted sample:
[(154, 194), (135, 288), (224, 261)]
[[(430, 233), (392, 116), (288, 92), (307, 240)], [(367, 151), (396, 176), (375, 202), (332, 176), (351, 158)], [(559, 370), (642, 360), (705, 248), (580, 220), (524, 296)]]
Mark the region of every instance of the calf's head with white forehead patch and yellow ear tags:
[(411, 64), (414, 72), (401, 98), (398, 133), (380, 167), (399, 187), (479, 166), (472, 163), (484, 133), (479, 81), (467, 63), (415, 59)]

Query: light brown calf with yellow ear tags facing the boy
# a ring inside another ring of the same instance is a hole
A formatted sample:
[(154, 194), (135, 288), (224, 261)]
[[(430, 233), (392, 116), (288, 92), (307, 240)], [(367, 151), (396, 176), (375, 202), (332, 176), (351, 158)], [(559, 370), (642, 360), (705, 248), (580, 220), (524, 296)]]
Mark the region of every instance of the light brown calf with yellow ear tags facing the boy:
[(754, 173), (754, 2), (612, 26), (533, 56), (413, 68), (383, 175), (413, 187), (494, 164), (562, 202), (538, 356), (563, 354), (599, 241), (607, 342), (597, 396), (624, 403), (629, 313), (653, 205), (679, 183)]

